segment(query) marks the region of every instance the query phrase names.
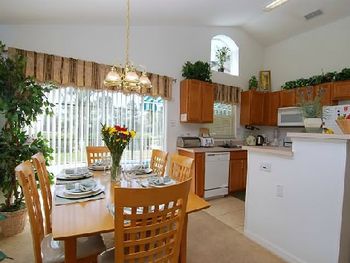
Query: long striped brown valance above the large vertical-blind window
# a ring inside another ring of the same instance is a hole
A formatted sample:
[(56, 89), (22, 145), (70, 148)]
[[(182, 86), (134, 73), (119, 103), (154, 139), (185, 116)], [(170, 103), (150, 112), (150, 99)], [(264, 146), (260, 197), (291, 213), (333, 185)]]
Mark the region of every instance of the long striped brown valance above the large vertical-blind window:
[[(86, 89), (110, 89), (103, 84), (110, 65), (9, 48), (9, 56), (16, 54), (26, 58), (26, 75), (33, 76), (39, 82), (51, 81), (59, 86)], [(148, 73), (148, 77), (152, 88), (143, 89), (140, 94), (170, 100), (173, 79), (154, 73)]]

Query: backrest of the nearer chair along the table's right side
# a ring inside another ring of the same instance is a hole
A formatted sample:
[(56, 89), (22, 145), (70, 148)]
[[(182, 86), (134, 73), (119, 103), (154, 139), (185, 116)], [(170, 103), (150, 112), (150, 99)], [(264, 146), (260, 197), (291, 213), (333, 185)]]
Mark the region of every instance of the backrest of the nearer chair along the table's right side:
[(193, 159), (190, 157), (173, 154), (170, 157), (169, 176), (178, 182), (192, 178)]

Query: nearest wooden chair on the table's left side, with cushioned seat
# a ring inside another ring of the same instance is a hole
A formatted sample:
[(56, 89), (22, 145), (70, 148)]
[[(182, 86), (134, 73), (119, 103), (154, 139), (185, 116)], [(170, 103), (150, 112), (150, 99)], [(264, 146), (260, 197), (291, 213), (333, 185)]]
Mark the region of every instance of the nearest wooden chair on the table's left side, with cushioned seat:
[[(54, 241), (51, 234), (44, 234), (43, 215), (32, 164), (26, 161), (18, 165), (15, 172), (28, 209), (35, 262), (64, 262), (64, 243)], [(96, 262), (97, 255), (103, 250), (105, 245), (101, 236), (83, 237), (77, 240), (77, 258), (80, 263)]]

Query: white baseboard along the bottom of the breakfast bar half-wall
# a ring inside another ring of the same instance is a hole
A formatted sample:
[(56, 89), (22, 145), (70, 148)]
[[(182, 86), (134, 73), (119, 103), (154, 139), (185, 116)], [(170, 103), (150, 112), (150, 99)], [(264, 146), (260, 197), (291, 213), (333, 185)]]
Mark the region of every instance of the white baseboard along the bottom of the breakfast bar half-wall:
[(268, 249), (269, 251), (271, 251), (272, 253), (276, 254), (277, 256), (281, 257), (282, 259), (284, 259), (289, 263), (307, 263), (306, 261), (288, 253), (282, 248), (260, 237), (259, 235), (253, 234), (245, 229), (244, 229), (244, 235), (249, 239), (253, 240), (255, 243), (258, 243), (259, 245), (263, 246), (264, 248)]

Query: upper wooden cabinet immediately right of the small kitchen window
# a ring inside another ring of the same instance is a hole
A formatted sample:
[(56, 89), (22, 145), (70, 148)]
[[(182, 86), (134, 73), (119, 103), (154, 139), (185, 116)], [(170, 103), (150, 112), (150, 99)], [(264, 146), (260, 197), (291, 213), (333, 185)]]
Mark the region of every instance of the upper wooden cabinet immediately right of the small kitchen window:
[(241, 93), (241, 125), (264, 124), (264, 94), (255, 90)]

